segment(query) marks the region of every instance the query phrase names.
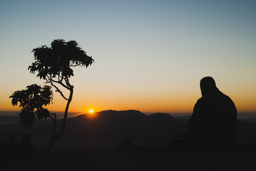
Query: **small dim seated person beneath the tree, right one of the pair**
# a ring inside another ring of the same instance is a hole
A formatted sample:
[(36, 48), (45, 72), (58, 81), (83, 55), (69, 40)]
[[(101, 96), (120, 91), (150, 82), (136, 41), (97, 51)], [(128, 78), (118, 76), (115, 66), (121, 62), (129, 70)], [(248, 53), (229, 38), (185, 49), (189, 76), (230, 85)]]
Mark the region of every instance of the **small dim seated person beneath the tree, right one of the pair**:
[(18, 157), (20, 161), (30, 161), (34, 156), (34, 147), (30, 143), (30, 135), (24, 134), (22, 141), (17, 145)]

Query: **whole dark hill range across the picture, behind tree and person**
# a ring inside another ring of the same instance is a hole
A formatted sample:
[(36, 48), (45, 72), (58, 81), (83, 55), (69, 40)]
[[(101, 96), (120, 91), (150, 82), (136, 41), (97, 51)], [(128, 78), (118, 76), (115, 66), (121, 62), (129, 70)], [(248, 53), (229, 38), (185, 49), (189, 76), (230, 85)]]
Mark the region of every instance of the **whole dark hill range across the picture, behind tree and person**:
[[(0, 116), (0, 121), (2, 118), (8, 117)], [(18, 122), (8, 120), (8, 123), (0, 124), (2, 142), (9, 135), (19, 140), (28, 133), (42, 148), (44, 143), (48, 143), (53, 126), (50, 120), (36, 122), (27, 129), (19, 127)], [(61, 120), (57, 120), (57, 125), (60, 123)], [(238, 143), (256, 143), (256, 124), (238, 120), (237, 129)], [(187, 123), (170, 114), (146, 115), (136, 110), (107, 110), (95, 113), (94, 117), (82, 114), (68, 118), (64, 136), (56, 146), (115, 147), (125, 138), (130, 139), (132, 145), (167, 146), (171, 137), (184, 132), (187, 132)]]

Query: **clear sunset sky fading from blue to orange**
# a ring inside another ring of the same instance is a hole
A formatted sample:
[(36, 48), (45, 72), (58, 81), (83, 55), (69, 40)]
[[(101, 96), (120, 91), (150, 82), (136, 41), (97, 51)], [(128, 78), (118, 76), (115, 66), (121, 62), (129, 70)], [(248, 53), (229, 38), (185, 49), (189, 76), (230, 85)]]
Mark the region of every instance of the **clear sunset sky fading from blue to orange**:
[[(59, 38), (95, 60), (74, 69), (70, 112), (192, 113), (205, 76), (238, 112), (256, 112), (256, 0), (0, 0), (0, 111), (44, 85), (31, 51)], [(65, 106), (54, 93), (47, 108)]]

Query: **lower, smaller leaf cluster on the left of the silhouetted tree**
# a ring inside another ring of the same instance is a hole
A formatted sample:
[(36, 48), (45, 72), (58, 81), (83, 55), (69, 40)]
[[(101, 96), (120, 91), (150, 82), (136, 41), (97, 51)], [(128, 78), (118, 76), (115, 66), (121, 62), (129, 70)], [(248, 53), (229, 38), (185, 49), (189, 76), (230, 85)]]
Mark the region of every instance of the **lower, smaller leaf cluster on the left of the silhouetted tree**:
[[(29, 85), (25, 90), (15, 91), (12, 93), (12, 105), (21, 107), (20, 125), (27, 127), (33, 122), (49, 117), (50, 113), (43, 106), (52, 103), (53, 93), (49, 85)], [(35, 111), (36, 110), (36, 111)], [(35, 111), (35, 112), (34, 112)]]

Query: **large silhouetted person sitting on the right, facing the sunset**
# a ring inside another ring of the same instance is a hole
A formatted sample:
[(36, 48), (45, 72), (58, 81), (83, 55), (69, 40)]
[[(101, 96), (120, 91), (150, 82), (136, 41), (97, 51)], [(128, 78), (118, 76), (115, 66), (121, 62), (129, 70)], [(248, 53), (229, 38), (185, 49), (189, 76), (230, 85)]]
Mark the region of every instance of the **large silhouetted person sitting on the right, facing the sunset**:
[(203, 144), (214, 149), (236, 146), (236, 106), (216, 87), (210, 76), (200, 81), (202, 97), (197, 100), (188, 121), (189, 133), (202, 137)]

